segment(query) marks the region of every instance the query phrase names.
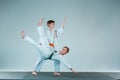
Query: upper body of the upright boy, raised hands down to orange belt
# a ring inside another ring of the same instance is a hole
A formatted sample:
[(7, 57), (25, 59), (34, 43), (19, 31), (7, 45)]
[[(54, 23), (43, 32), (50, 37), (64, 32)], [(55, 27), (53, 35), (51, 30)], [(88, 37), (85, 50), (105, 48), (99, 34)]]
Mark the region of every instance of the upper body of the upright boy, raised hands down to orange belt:
[(64, 21), (63, 21), (61, 27), (57, 28), (57, 30), (54, 29), (54, 27), (55, 27), (54, 20), (47, 21), (48, 30), (45, 30), (44, 27), (42, 26), (43, 21), (44, 21), (44, 18), (42, 18), (39, 21), (39, 23), (38, 23), (39, 27), (37, 28), (38, 33), (40, 35), (39, 44), (43, 45), (45, 47), (48, 47), (48, 44), (51, 47), (55, 47), (55, 41), (58, 39), (60, 34), (63, 32), (66, 17), (64, 18)]

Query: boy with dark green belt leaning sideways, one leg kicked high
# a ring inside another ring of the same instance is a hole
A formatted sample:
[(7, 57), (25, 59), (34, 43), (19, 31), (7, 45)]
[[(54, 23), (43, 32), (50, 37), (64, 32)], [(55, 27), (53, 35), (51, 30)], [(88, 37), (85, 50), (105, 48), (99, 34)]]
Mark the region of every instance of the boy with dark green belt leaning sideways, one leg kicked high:
[(39, 71), (42, 68), (42, 65), (44, 64), (46, 59), (53, 60), (53, 61), (59, 61), (60, 63), (65, 65), (68, 69), (70, 69), (72, 72), (76, 73), (74, 69), (70, 65), (68, 65), (67, 62), (63, 58), (63, 55), (69, 52), (69, 48), (67, 46), (64, 46), (62, 50), (54, 52), (54, 54), (51, 55), (52, 53), (50, 50), (48, 50), (46, 47), (39, 45), (34, 40), (32, 40), (30, 37), (26, 36), (24, 31), (21, 32), (21, 37), (26, 42), (35, 46), (42, 57), (39, 63), (37, 64), (37, 66), (35, 67), (34, 72), (32, 73), (33, 75), (37, 75), (37, 71)]

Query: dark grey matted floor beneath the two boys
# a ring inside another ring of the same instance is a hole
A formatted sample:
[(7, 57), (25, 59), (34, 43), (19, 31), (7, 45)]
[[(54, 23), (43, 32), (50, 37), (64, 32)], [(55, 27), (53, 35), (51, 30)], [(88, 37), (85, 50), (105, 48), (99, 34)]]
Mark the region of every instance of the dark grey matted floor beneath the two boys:
[(61, 72), (60, 77), (53, 76), (53, 72), (39, 72), (33, 76), (31, 72), (0, 72), (0, 79), (7, 80), (119, 80), (119, 72)]

